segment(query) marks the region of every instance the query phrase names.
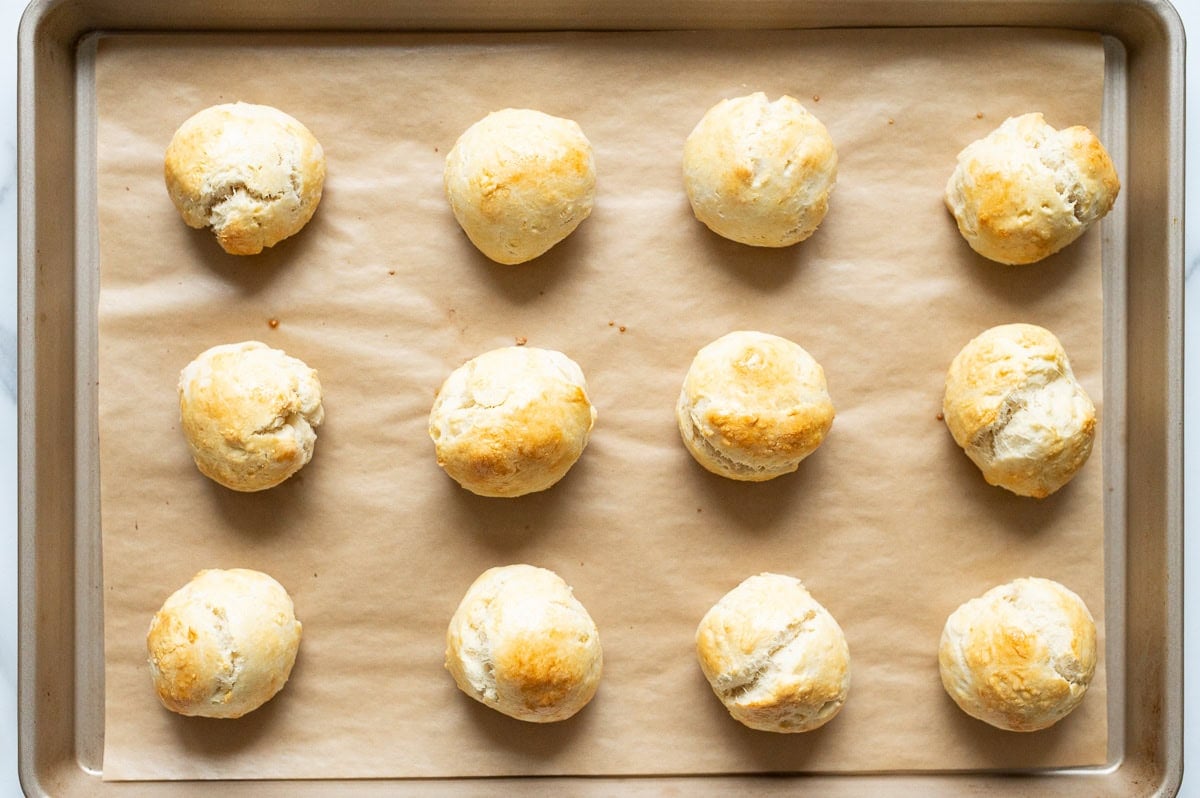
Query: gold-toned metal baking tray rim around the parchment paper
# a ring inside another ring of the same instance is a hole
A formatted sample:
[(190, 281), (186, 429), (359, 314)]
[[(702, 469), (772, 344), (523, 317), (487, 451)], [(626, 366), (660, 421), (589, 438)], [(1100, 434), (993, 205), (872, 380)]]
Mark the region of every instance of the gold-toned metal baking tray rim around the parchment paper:
[[(733, 7), (736, 6), (736, 8)], [(1016, 26), (1104, 36), (1105, 137), (1129, 208), (1104, 253), (1105, 373), (1123, 426), (1106, 504), (1109, 763), (798, 776), (239, 782), (254, 794), (1174, 794), (1183, 725), (1183, 29), (1165, 0), (36, 0), (19, 34), (19, 768), (30, 794), (228, 791), (104, 782), (96, 222), (86, 41), (102, 31), (546, 31)], [(1111, 409), (1111, 408), (1110, 408)], [(1120, 426), (1120, 425), (1118, 425)]]

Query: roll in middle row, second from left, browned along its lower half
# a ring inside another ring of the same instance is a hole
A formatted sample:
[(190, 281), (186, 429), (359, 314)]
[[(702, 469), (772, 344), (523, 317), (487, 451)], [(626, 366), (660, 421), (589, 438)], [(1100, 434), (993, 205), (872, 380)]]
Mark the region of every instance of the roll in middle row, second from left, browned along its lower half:
[(505, 347), (468, 360), (430, 412), (438, 466), (472, 493), (515, 497), (563, 479), (588, 445), (596, 410), (560, 352)]

